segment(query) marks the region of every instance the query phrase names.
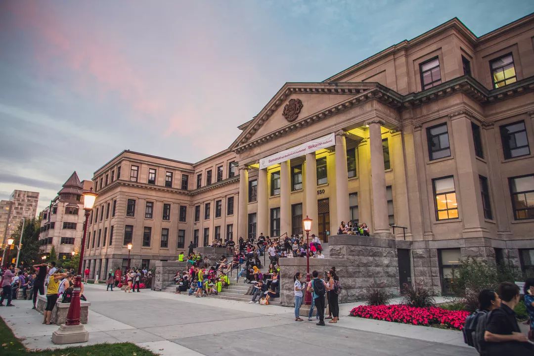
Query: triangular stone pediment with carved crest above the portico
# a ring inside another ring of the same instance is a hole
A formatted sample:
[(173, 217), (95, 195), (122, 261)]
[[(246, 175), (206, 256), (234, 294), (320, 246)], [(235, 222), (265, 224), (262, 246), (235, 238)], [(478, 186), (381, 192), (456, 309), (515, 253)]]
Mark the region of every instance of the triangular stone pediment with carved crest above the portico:
[(286, 83), (262, 111), (247, 122), (230, 149), (239, 150), (278, 137), (373, 96), (383, 96), (379, 93), (383, 91), (384, 87), (378, 83)]

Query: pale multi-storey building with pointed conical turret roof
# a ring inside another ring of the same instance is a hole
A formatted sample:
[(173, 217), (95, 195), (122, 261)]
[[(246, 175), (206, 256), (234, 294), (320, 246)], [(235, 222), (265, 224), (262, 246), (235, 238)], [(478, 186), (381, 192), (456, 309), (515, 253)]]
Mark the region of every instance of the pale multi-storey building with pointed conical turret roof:
[(49, 207), (41, 211), (41, 253), (50, 254), (52, 247), (58, 259), (72, 258), (72, 252), (80, 252), (85, 222), (83, 210), (84, 191), (92, 187), (91, 180), (80, 181), (76, 172), (63, 184)]

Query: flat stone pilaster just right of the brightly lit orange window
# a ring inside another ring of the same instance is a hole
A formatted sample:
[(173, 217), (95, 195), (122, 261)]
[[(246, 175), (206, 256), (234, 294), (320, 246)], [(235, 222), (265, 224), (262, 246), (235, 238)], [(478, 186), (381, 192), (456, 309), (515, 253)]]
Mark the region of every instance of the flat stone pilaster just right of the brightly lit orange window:
[[(484, 223), (484, 210), (482, 208), (482, 195), (478, 183), (476, 170), (476, 157), (473, 142), (473, 129), (471, 120), (466, 113), (450, 115), (452, 126), (452, 138), (454, 152), (457, 156), (456, 168), (458, 169), (458, 185), (456, 188), (459, 211), (464, 221), (464, 238), (482, 237)], [(461, 155), (461, 157), (460, 157)]]

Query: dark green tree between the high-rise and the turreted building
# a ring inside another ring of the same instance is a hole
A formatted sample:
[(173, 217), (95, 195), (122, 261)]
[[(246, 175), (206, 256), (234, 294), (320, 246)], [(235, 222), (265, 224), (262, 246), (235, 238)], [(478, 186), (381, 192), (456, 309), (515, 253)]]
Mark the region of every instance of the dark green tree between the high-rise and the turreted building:
[[(13, 244), (18, 246), (20, 241), (20, 230), (22, 229), (22, 221), (20, 221), (17, 230), (13, 232), (11, 238), (14, 240)], [(39, 260), (39, 247), (41, 246), (39, 242), (39, 232), (41, 229), (41, 219), (26, 219), (24, 224), (24, 231), (22, 232), (22, 246), (20, 249), (19, 255), (19, 266), (27, 267), (32, 266)], [(15, 248), (13, 251), (17, 251)], [(16, 254), (10, 255), (11, 257), (16, 257)], [(10, 261), (11, 262), (11, 261)]]

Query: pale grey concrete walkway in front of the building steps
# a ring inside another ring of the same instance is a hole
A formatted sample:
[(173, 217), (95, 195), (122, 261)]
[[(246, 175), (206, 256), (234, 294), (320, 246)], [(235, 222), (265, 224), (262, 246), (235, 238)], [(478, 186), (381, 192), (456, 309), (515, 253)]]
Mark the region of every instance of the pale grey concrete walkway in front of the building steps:
[[(336, 355), (476, 355), (459, 331), (341, 317), (318, 327), (315, 321), (295, 322), (293, 308), (262, 306), (214, 298), (195, 298), (143, 290), (106, 292), (85, 284), (91, 301), (89, 342), (133, 342), (161, 355), (277, 355), (326, 352)], [(32, 350), (58, 348), (51, 335), (57, 326), (42, 325), (42, 315), (29, 300), (0, 307), (0, 317)], [(358, 303), (344, 304), (341, 315)], [(68, 345), (72, 346), (72, 345)]]

